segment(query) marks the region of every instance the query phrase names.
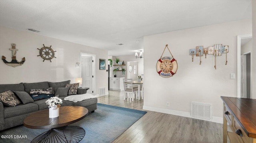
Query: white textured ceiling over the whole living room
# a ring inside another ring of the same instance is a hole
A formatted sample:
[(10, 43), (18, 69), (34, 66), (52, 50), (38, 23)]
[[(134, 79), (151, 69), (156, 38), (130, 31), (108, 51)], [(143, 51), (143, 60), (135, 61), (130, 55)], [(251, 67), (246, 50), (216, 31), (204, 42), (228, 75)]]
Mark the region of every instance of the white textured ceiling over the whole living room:
[(0, 0), (0, 25), (112, 56), (140, 51), (146, 35), (251, 18), (251, 0)]

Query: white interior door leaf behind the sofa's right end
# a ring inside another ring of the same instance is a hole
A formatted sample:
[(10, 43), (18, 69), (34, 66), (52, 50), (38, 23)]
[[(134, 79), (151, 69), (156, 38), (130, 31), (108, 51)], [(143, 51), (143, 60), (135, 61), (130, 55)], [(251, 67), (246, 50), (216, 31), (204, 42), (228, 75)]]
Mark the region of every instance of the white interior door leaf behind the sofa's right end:
[(82, 87), (89, 87), (87, 93), (92, 94), (92, 56), (81, 57)]

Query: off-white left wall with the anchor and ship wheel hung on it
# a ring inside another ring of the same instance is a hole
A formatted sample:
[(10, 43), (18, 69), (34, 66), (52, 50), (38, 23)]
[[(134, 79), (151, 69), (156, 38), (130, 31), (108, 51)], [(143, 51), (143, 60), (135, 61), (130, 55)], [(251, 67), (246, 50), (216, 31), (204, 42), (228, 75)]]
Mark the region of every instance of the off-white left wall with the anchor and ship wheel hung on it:
[[(19, 31), (8, 27), (0, 26), (0, 56), (4, 55), (7, 61), (12, 59), (11, 44), (16, 43), (16, 59), (21, 61), (26, 58), (22, 66), (11, 67), (0, 61), (0, 84), (16, 84), (20, 82), (60, 82), (80, 77), (80, 68), (76, 67), (76, 62), (80, 61), (80, 53), (96, 55), (96, 91), (101, 87), (106, 87), (108, 92), (108, 72), (99, 70), (99, 59), (107, 59), (108, 51), (88, 47), (76, 43), (62, 41), (51, 37), (45, 37), (30, 31)], [(52, 45), (55, 57), (50, 61), (45, 60), (39, 55), (39, 50), (43, 47)], [(38, 48), (38, 49), (37, 49)], [(103, 78), (106, 77), (106, 78)]]

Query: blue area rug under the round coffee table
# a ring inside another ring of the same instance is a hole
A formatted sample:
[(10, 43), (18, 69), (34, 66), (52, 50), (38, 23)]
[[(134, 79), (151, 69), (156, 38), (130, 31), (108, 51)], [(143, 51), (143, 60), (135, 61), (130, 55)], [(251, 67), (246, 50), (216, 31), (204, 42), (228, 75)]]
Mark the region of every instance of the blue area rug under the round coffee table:
[[(84, 119), (70, 124), (84, 128), (80, 143), (111, 143), (147, 112), (98, 103), (98, 109)], [(0, 135), (26, 135), (27, 138), (2, 139), (0, 143), (29, 143), (48, 129), (29, 129), (20, 125), (0, 131)], [(17, 137), (17, 136), (16, 136)], [(22, 137), (22, 136), (20, 136)]]

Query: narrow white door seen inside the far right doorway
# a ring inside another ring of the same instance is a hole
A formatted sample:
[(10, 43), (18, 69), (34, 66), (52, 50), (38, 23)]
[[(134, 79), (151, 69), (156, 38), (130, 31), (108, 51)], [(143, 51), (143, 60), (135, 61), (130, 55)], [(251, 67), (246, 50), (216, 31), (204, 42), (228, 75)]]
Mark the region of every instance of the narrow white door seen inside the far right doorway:
[(247, 97), (246, 88), (246, 55), (241, 55), (241, 98)]

